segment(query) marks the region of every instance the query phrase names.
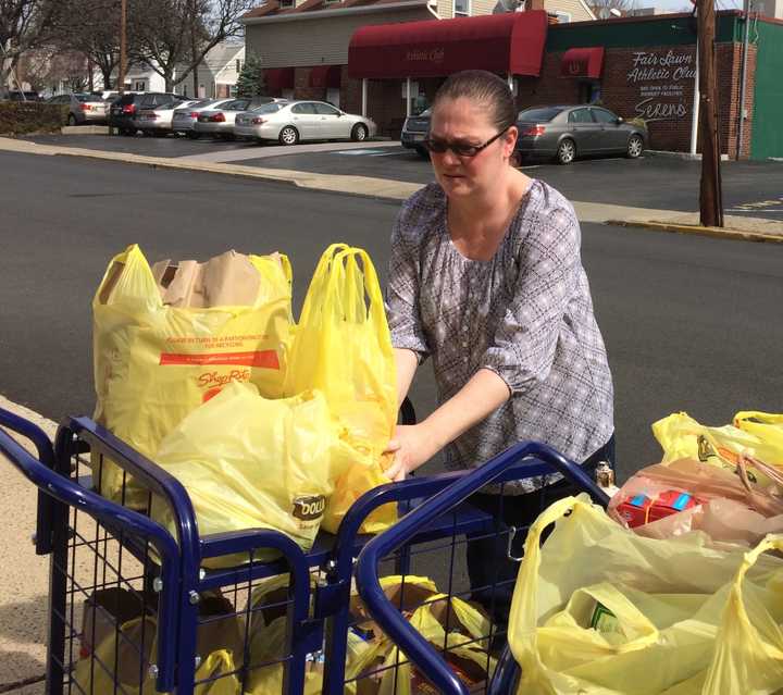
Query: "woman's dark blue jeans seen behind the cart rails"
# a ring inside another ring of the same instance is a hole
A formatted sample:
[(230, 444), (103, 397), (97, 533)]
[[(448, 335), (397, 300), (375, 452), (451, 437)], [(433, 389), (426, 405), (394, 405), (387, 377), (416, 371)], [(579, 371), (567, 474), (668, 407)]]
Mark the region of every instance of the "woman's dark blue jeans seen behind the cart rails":
[[(582, 463), (582, 470), (595, 479), (595, 469), (601, 461), (614, 467), (614, 435), (600, 449)], [(490, 533), (469, 533), (468, 576), (471, 600), (481, 604), (495, 623), (494, 632), (505, 634), (511, 610), (511, 596), (519, 564), (508, 557), (509, 526), (521, 529), (514, 536), (511, 555), (521, 557), (526, 529), (551, 502), (576, 495), (580, 489), (568, 480), (547, 485), (525, 495), (487, 495), (477, 493), (470, 504), (495, 519)]]

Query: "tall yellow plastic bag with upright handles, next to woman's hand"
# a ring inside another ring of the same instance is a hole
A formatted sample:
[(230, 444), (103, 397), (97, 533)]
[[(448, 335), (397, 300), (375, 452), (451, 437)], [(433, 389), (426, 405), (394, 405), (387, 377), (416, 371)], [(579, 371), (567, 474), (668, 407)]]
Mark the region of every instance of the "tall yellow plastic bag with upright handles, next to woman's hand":
[[(360, 266), (361, 263), (361, 266)], [(397, 421), (394, 350), (381, 286), (361, 249), (331, 246), (321, 257), (293, 340), (285, 390), (322, 390), (332, 412), (375, 463), (357, 466), (337, 481), (323, 528), (335, 533), (351, 505), (388, 483), (382, 455)], [(397, 520), (394, 505), (376, 509), (362, 524), (378, 533)]]

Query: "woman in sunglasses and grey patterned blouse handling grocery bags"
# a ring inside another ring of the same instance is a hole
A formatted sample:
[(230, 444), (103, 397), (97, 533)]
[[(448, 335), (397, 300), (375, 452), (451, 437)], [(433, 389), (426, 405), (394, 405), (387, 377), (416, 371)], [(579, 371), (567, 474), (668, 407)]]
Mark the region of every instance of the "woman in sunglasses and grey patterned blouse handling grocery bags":
[[(549, 444), (588, 473), (613, 462), (612, 381), (580, 225), (562, 195), (511, 166), (515, 121), (508, 86), (483, 71), (452, 75), (433, 102), (424, 145), (436, 183), (397, 219), (387, 311), (400, 402), (432, 357), (440, 406), (397, 429), (394, 480), (442, 449), (446, 467), (462, 470), (524, 439)], [(473, 501), (500, 526), (525, 525), (543, 483), (552, 496), (572, 492), (556, 477), (507, 483)], [(505, 623), (517, 567), (504, 539), (469, 541), (468, 569), (473, 598)]]

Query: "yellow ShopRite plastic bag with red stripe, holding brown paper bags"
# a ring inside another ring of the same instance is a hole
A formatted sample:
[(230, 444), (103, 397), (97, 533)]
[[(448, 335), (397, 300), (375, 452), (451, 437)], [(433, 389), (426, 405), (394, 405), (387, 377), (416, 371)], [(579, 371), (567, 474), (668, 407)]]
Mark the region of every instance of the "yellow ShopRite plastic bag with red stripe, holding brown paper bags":
[[(190, 411), (233, 381), (283, 394), (289, 338), (290, 266), (248, 257), (261, 282), (252, 306), (165, 306), (147, 259), (129, 246), (112, 259), (92, 301), (95, 419), (152, 457)], [(144, 507), (146, 493), (109, 461), (96, 470), (104, 497)]]

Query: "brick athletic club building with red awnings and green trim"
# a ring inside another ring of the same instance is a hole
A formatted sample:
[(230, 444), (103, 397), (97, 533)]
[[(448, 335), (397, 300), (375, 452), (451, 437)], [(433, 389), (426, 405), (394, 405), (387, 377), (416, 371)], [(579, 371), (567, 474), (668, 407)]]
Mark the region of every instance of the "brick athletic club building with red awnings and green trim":
[[(574, 17), (575, 0), (563, 0), (572, 3), (568, 18), (576, 20), (569, 22), (564, 5), (558, 11), (546, 0), (542, 11), (533, 9), (540, 0), (529, 0), (525, 12), (464, 17), (453, 16), (455, 8), (468, 2), (475, 9), (480, 0), (448, 0), (453, 18), (423, 20), (422, 0), (343, 0), (330, 3), (333, 10), (325, 9), (328, 0), (306, 0), (301, 12), (311, 3), (326, 16), (310, 24), (302, 40), (299, 22), (263, 23), (264, 12), (269, 18), (279, 12), (276, 1), (245, 20), (248, 50), (270, 64), (275, 96), (326, 99), (365, 113), (381, 133), (397, 137), (417, 96), (431, 100), (446, 75), (481, 67), (509, 80), (520, 109), (600, 100), (625, 119), (644, 119), (652, 149), (691, 149), (696, 24), (688, 14), (595, 21)], [(340, 14), (338, 7), (351, 2), (357, 13)], [(425, 4), (432, 14), (433, 0)], [(318, 39), (325, 21), (331, 28)], [(783, 157), (783, 21), (751, 15), (749, 28), (739, 146), (745, 18), (738, 11), (717, 15), (721, 151), (733, 158), (739, 147), (742, 158)]]

